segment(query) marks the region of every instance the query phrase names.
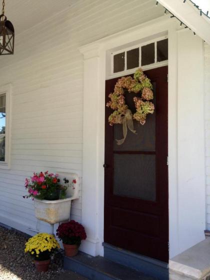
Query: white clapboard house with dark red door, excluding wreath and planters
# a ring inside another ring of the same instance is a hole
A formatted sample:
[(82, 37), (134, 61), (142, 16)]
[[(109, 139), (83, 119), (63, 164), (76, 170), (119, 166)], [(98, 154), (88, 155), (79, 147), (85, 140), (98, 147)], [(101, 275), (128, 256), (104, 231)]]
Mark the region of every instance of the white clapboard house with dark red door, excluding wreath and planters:
[[(210, 1), (5, 0), (4, 9), (15, 39), (14, 54), (0, 55), (0, 223), (30, 235), (49, 230), (22, 198), (24, 179), (76, 173), (70, 217), (86, 229), (84, 258), (162, 280), (204, 279)], [(122, 125), (108, 124), (105, 103), (117, 78), (139, 67), (155, 112), (117, 145)], [(94, 273), (81, 262), (83, 275)], [(64, 265), (74, 269), (73, 260)]]

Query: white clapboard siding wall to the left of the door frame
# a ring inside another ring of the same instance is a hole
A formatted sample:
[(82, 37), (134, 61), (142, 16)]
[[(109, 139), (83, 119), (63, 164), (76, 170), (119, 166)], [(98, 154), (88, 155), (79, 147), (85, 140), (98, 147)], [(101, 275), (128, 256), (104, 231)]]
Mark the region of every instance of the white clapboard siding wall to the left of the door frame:
[[(15, 54), (0, 57), (0, 86), (13, 87), (11, 169), (0, 169), (0, 222), (33, 233), (27, 229), (36, 226), (33, 203), (22, 198), (24, 178), (33, 171), (82, 176), (83, 58), (78, 47), (163, 12), (154, 0), (79, 0), (15, 36)], [(80, 221), (81, 190), (71, 218)], [(46, 224), (39, 229), (47, 230)]]

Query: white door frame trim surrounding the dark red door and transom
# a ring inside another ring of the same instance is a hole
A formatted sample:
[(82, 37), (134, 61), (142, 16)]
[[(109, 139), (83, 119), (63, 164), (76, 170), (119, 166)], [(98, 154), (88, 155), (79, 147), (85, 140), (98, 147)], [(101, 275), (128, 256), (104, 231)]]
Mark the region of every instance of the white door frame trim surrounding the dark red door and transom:
[[(88, 254), (103, 256), (104, 170), (102, 165), (104, 163), (104, 99), (107, 51), (114, 47), (134, 43), (136, 39), (158, 36), (161, 32), (166, 32), (168, 35), (169, 258), (179, 253), (181, 246), (183, 249), (184, 243), (182, 240), (183, 244), (179, 244), (182, 234), (180, 226), (182, 224), (179, 225), (178, 220), (180, 206), (178, 202), (177, 168), (177, 53), (179, 30), (180, 26), (175, 20), (161, 16), (79, 48), (79, 51), (84, 56), (81, 222), (87, 231), (87, 239), (82, 242), (80, 248)], [(181, 30), (180, 32), (186, 33), (187, 31)], [(203, 199), (200, 198), (200, 204), (201, 200)], [(201, 223), (204, 223), (203, 219)], [(204, 229), (204, 224), (202, 226)], [(190, 240), (191, 243), (202, 239), (202, 234), (200, 233), (202, 226), (199, 225), (195, 233), (199, 232), (193, 240)]]

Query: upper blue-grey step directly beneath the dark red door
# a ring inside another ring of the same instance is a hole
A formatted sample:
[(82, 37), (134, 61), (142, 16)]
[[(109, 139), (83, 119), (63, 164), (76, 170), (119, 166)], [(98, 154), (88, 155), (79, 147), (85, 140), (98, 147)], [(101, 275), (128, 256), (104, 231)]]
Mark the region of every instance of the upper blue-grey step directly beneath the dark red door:
[(141, 271), (159, 280), (168, 280), (168, 263), (103, 243), (104, 258)]

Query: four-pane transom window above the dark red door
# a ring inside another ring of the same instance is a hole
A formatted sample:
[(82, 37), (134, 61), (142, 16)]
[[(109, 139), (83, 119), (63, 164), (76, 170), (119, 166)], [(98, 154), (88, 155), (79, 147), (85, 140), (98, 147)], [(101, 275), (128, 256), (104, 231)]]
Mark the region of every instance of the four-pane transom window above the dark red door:
[[(154, 68), (168, 60), (166, 36), (111, 53), (111, 74), (126, 73), (138, 67)], [(147, 67), (148, 66), (148, 67)]]

